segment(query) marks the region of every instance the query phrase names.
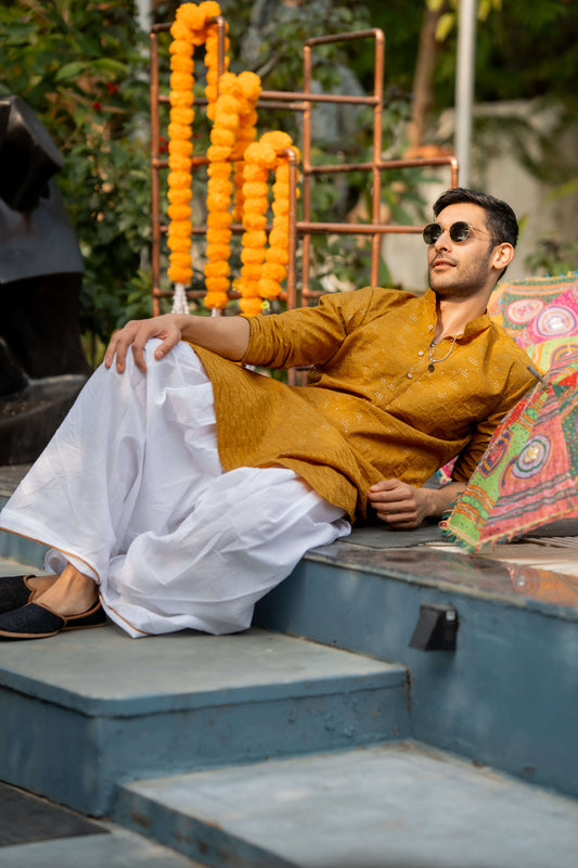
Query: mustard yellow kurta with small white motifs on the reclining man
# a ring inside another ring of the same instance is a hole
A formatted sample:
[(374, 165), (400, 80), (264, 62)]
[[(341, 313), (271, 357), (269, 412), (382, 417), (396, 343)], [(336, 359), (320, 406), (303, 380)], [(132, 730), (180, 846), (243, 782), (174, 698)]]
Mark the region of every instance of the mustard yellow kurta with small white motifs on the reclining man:
[[(436, 297), (367, 288), (317, 307), (249, 319), (245, 365), (314, 366), (291, 387), (195, 347), (215, 392), (226, 470), (282, 464), (354, 518), (382, 478), (422, 485), (460, 455), (466, 481), (534, 378), (525, 353), (484, 315), (434, 348)], [(444, 358), (447, 355), (447, 358)], [(441, 360), (442, 359), (442, 360)]]

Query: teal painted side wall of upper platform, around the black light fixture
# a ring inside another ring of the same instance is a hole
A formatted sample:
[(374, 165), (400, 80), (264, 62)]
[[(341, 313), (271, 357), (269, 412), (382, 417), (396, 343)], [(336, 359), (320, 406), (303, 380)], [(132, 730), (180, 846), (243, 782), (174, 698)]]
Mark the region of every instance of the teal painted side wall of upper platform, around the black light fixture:
[[(454, 653), (409, 647), (422, 603), (458, 610)], [(260, 601), (255, 623), (404, 664), (412, 738), (576, 797), (578, 622), (571, 615), (338, 569), (308, 554)]]

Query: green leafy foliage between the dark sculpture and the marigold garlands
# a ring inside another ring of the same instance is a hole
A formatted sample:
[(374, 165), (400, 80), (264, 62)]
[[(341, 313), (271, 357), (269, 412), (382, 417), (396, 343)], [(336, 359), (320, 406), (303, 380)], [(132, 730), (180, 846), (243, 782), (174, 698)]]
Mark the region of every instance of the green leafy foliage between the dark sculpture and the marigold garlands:
[(57, 182), (86, 267), (80, 326), (106, 341), (150, 310), (147, 56), (133, 2), (1, 2), (0, 53), (0, 92), (22, 97), (63, 155)]

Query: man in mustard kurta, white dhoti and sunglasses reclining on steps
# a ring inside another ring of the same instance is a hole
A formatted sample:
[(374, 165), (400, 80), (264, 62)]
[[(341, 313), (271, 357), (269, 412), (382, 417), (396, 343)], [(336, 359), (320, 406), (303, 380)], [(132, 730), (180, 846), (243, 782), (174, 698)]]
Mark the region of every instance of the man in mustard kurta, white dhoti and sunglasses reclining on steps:
[[(389, 527), (441, 515), (534, 379), (485, 314), (514, 213), (463, 189), (434, 213), (421, 297), (367, 288), (279, 316), (166, 315), (117, 332), (0, 518), (52, 547), (54, 574), (0, 583), (0, 637), (105, 613), (134, 637), (244, 629), (305, 551), (368, 508)], [(239, 361), (314, 368), (292, 388)], [(423, 488), (454, 456), (452, 482)]]

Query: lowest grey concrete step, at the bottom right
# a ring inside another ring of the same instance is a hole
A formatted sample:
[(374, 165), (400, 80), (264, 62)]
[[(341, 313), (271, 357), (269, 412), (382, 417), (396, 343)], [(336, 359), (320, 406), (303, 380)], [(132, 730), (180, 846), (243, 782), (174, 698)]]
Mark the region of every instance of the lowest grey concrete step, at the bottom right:
[(224, 868), (575, 868), (578, 805), (416, 743), (124, 786), (115, 819)]

